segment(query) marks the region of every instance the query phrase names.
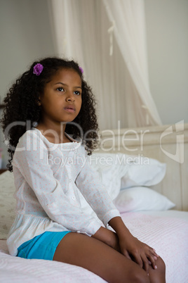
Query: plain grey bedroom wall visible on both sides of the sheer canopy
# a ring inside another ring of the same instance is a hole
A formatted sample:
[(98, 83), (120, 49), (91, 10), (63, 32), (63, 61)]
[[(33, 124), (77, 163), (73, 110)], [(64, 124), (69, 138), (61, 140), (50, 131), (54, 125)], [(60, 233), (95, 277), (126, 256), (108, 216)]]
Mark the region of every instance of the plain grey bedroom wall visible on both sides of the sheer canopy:
[[(2, 102), (11, 82), (55, 49), (47, 0), (0, 0), (0, 5)], [(188, 1), (145, 0), (145, 14), (150, 88), (159, 115), (164, 125), (188, 122)]]

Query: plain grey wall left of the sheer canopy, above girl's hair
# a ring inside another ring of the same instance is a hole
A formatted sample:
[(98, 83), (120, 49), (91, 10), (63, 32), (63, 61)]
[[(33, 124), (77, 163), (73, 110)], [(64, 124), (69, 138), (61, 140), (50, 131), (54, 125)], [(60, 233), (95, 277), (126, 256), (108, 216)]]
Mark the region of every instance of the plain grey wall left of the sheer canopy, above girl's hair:
[[(2, 103), (12, 82), (30, 63), (36, 58), (55, 54), (46, 0), (1, 0), (0, 7)], [(3, 140), (3, 134), (0, 132), (0, 147), (4, 149), (4, 168), (8, 153)]]

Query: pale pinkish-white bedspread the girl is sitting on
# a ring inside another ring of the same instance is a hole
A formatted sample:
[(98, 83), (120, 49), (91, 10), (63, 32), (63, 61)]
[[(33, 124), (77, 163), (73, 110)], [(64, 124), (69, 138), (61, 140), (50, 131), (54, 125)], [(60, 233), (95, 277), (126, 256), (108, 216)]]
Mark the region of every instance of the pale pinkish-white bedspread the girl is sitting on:
[[(121, 216), (130, 232), (156, 249), (163, 258), (166, 263), (166, 283), (185, 283), (188, 278), (188, 222), (174, 218), (174, 213), (173, 218), (137, 212), (123, 213)], [(105, 282), (92, 272), (74, 265), (10, 256), (5, 240), (0, 241), (0, 278), (1, 282), (6, 283)]]

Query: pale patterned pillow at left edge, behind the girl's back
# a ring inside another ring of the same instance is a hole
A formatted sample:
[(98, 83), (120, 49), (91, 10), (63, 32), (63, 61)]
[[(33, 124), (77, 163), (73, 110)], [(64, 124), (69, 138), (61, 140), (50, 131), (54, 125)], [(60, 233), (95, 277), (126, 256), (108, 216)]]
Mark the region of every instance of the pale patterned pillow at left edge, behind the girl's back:
[(0, 175), (0, 239), (6, 239), (15, 219), (14, 193), (13, 173), (6, 171)]

